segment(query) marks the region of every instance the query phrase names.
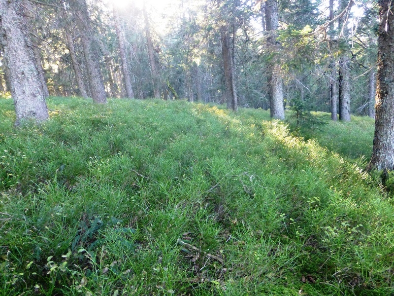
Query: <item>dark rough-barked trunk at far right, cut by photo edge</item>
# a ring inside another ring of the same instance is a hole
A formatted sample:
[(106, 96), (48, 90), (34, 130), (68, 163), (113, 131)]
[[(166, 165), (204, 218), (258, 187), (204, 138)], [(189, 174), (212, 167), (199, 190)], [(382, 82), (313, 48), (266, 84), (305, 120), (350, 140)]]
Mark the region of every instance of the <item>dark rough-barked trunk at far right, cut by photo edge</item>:
[(379, 0), (376, 120), (368, 169), (394, 170), (394, 4)]

